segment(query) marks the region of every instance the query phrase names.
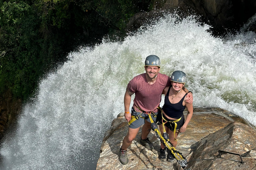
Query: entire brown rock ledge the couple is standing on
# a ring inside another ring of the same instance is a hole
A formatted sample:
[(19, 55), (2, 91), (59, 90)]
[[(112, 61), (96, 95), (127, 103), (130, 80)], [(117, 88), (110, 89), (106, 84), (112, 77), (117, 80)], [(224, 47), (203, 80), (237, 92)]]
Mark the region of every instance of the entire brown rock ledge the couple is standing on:
[[(184, 115), (186, 116), (186, 114)], [(245, 125), (244, 123), (248, 124), (243, 119), (224, 110), (194, 109), (193, 117), (186, 131), (180, 133), (177, 138), (176, 149), (189, 162), (186, 168), (191, 170), (256, 170), (256, 130), (250, 124)], [(105, 133), (97, 170), (182, 170), (176, 160), (167, 162), (158, 159), (160, 141), (152, 130), (149, 139), (154, 144), (154, 150), (148, 150), (140, 145), (141, 129), (131, 146), (128, 147), (128, 164), (122, 165), (118, 159), (119, 150), (127, 131), (128, 123), (124, 119), (124, 114), (120, 113), (113, 120), (111, 128)], [(241, 163), (238, 155), (221, 153), (220, 157), (218, 150), (243, 154), (242, 156), (245, 156), (242, 157), (244, 164)]]

